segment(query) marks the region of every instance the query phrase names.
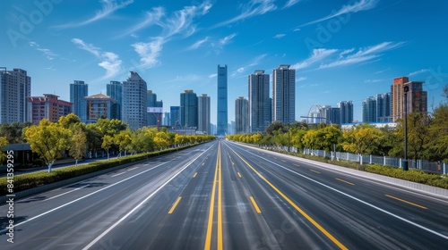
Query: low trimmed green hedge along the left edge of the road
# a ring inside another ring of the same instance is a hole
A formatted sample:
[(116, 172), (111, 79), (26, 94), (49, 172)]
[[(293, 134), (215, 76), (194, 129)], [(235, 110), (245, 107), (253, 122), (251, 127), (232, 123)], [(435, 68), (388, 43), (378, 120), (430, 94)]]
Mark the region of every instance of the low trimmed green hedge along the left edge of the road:
[[(170, 148), (163, 151), (158, 152), (151, 152), (146, 154), (136, 154), (136, 155), (130, 155), (121, 157), (118, 159), (112, 159), (112, 160), (105, 160), (105, 161), (98, 161), (98, 162), (90, 162), (88, 164), (79, 165), (79, 166), (73, 166), (68, 167), (64, 169), (56, 169), (51, 172), (47, 171), (39, 171), (34, 173), (25, 173), (21, 175), (15, 175), (13, 178), (13, 191), (14, 193), (20, 192), (26, 189), (30, 189), (33, 187), (39, 187), (43, 185), (47, 185), (50, 183), (54, 183), (56, 181), (64, 180), (64, 179), (71, 179), (74, 177), (82, 176), (85, 174), (89, 174), (95, 171), (102, 171), (106, 170), (108, 168), (113, 168), (119, 165), (123, 165), (125, 163), (131, 163), (131, 162), (138, 162), (142, 161), (144, 159), (160, 155), (160, 154), (167, 154), (170, 152), (175, 152), (181, 149), (184, 149), (188, 146), (184, 147), (178, 147), (178, 148)], [(7, 195), (7, 178), (2, 177), (0, 178), (0, 195), (5, 196)]]

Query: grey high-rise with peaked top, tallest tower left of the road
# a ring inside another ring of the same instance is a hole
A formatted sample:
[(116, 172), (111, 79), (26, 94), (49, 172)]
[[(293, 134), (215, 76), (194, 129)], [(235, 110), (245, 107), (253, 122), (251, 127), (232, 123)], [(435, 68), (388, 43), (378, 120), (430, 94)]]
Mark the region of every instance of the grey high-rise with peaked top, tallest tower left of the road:
[(131, 71), (131, 77), (123, 82), (122, 120), (131, 129), (146, 126), (146, 81), (137, 72)]

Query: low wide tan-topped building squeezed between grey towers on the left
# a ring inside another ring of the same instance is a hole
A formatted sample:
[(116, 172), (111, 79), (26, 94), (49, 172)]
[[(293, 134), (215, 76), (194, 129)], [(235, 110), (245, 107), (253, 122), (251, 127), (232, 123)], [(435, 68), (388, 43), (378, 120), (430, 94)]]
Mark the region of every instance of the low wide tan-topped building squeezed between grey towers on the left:
[(118, 102), (110, 96), (97, 94), (84, 97), (87, 105), (86, 123), (95, 123), (102, 119), (117, 119), (119, 115)]

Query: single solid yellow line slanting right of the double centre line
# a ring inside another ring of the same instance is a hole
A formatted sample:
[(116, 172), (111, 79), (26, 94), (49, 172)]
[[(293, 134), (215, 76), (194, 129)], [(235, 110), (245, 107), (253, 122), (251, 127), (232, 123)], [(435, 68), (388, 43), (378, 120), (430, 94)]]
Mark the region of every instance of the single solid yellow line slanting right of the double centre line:
[[(233, 153), (237, 154), (237, 152), (235, 152), (233, 149), (230, 148), (230, 150), (232, 150)], [(300, 212), (300, 214), (302, 214), (302, 216), (304, 216), (304, 217), (306, 218), (306, 220), (310, 221), (310, 222), (314, 225), (314, 227), (315, 227), (316, 229), (319, 229), (319, 230), (323, 233), (323, 235), (325, 235), (325, 236), (328, 237), (330, 240), (332, 240), (332, 242), (333, 242), (336, 246), (339, 246), (340, 249), (344, 249), (344, 250), (345, 250), (345, 249), (349, 249), (349, 248), (347, 248), (347, 246), (342, 245), (342, 243), (340, 243), (340, 241), (339, 241), (338, 239), (336, 239), (335, 237), (333, 237), (332, 234), (330, 234), (326, 229), (323, 229), (323, 227), (322, 227), (319, 223), (317, 223), (317, 221), (314, 221), (314, 219), (311, 218), (311, 216), (309, 216), (309, 215), (308, 215), (305, 211), (303, 211), (300, 207), (298, 207), (297, 204), (293, 203), (293, 202), (289, 199), (288, 196), (286, 196), (285, 194), (283, 194), (283, 193), (280, 191), (279, 188), (277, 188), (277, 187), (275, 187), (274, 185), (272, 185), (271, 182), (270, 182), (268, 179), (266, 179), (260, 172), (256, 171), (256, 170), (254, 169), (254, 167), (253, 167), (251, 164), (249, 164), (249, 162), (246, 162), (246, 160), (243, 159), (243, 157), (241, 157), (239, 154), (237, 154), (237, 156), (238, 156), (241, 160), (243, 160), (243, 162), (245, 162), (246, 165), (249, 166), (249, 168), (252, 169), (252, 171), (254, 171), (254, 172), (255, 172), (261, 179), (263, 179), (264, 182), (266, 182), (269, 186), (271, 186), (272, 189), (274, 189), (274, 190), (275, 190), (281, 197), (283, 197), (283, 199), (285, 199), (285, 200), (286, 200), (292, 207), (294, 207), (294, 208), (297, 210), (297, 212)]]

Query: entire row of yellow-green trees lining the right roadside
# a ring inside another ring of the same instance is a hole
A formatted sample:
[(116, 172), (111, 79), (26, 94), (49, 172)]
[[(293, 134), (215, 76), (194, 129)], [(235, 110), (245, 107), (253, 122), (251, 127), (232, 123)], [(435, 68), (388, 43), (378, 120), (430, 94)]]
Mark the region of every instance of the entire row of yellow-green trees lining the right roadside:
[[(403, 122), (397, 128), (376, 129), (358, 124), (355, 129), (342, 131), (339, 126), (308, 125), (295, 122), (285, 125), (273, 122), (264, 134), (231, 135), (228, 139), (266, 146), (295, 146), (299, 149), (322, 149), (327, 152), (345, 151), (353, 154), (404, 156)], [(448, 104), (441, 104), (432, 114), (409, 113), (409, 158), (448, 162)]]

